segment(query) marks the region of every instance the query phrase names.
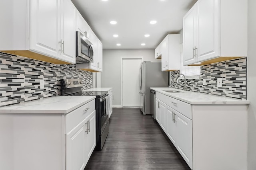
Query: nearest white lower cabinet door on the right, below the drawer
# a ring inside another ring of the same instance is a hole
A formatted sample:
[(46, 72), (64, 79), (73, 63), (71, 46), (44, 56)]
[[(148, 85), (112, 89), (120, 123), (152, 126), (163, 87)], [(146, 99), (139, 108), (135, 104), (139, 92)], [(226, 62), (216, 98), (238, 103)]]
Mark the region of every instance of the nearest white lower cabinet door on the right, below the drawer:
[(174, 111), (174, 121), (177, 135), (176, 148), (190, 168), (193, 168), (192, 120), (178, 111)]

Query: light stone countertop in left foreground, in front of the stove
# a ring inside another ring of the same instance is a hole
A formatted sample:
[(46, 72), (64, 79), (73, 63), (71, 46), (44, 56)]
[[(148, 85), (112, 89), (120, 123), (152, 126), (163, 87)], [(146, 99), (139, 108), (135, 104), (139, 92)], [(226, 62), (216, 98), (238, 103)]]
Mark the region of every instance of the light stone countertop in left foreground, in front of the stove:
[(31, 102), (0, 107), (0, 113), (60, 113), (66, 114), (94, 100), (96, 96), (53, 96)]

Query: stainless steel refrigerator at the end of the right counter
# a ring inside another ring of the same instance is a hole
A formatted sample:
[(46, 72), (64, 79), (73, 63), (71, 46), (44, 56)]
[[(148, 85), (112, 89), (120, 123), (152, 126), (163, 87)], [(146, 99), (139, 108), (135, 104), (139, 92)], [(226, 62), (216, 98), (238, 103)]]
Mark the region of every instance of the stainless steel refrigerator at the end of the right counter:
[(144, 115), (154, 114), (150, 110), (150, 87), (168, 87), (168, 72), (163, 72), (162, 63), (143, 61), (140, 63), (140, 110)]

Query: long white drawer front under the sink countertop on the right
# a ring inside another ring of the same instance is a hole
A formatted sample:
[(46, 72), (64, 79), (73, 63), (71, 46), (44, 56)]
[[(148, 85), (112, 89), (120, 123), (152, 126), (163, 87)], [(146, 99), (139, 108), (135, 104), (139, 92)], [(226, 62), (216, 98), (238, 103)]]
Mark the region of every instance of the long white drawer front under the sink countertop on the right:
[(186, 102), (182, 102), (180, 100), (174, 99), (170, 96), (166, 96), (162, 93), (156, 92), (156, 98), (172, 107), (176, 111), (182, 113), (184, 116), (192, 119), (192, 106)]

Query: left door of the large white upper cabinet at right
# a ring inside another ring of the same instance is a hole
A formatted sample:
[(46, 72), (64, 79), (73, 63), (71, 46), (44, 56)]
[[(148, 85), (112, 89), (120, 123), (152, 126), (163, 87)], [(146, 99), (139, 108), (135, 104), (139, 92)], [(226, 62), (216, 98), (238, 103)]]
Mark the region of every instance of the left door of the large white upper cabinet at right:
[(183, 64), (196, 62), (196, 17), (197, 4), (195, 4), (183, 17)]

